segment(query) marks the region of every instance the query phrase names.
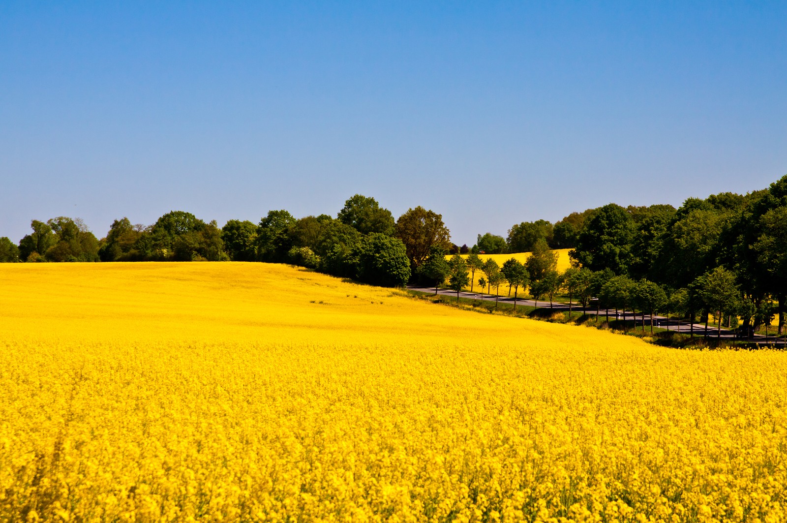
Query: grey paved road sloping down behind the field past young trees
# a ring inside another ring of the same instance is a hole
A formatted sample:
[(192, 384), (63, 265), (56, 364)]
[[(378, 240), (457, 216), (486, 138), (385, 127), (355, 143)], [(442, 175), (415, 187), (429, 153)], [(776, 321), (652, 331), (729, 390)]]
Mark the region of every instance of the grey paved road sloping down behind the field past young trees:
[[(408, 285), (407, 288), (410, 291), (425, 292), (425, 293), (429, 293), (429, 294), (433, 294), (434, 295), (434, 287), (418, 287), (418, 286), (415, 286), (415, 285)], [(438, 289), (437, 293), (438, 293), (438, 295), (453, 296), (454, 298), (456, 298), (456, 291), (451, 291), (450, 289)], [(460, 291), (459, 297), (460, 298), (466, 298), (466, 299), (476, 299), (476, 300), (479, 300), (479, 301), (486, 301), (486, 302), (493, 302), (493, 301), (495, 301), (495, 298), (496, 298), (495, 295), (487, 295), (487, 294), (483, 294), (483, 293), (480, 293), (480, 292), (466, 292), (466, 291)], [(508, 304), (513, 305), (514, 299), (501, 296), (499, 298), (499, 302), (501, 302), (501, 303), (508, 303)], [(556, 310), (556, 311), (567, 311), (567, 310), (569, 310), (569, 306), (567, 304), (565, 304), (565, 303), (552, 302), (552, 305), (550, 306), (549, 301), (545, 302), (543, 300), (538, 300), (538, 302), (536, 302), (535, 300), (532, 300), (532, 299), (521, 299), (520, 298), (520, 299), (516, 300), (516, 304), (517, 305), (530, 306), (530, 307), (538, 306), (538, 308), (540, 308), (540, 309), (553, 309), (553, 310)], [(586, 312), (586, 313), (589, 313), (589, 314), (596, 314), (596, 312), (597, 312), (596, 309), (590, 309), (590, 308), (589, 309), (582, 309), (582, 307), (578, 307), (578, 306), (573, 306), (571, 308), (572, 308), (572, 310), (575, 310), (577, 312), (582, 312), (582, 313)], [(615, 311), (614, 309), (610, 309), (610, 310), (601, 309), (599, 311), (599, 315), (600, 316), (604, 316), (604, 317), (609, 315), (609, 318), (611, 320), (612, 319), (616, 319), (616, 320), (636, 320), (636, 321), (639, 321), (639, 322), (642, 321), (641, 314), (637, 313), (637, 315), (635, 317), (634, 313), (631, 313), (630, 311), (626, 312), (626, 313), (623, 313), (623, 311)], [(639, 325), (641, 325), (641, 323)], [(650, 325), (650, 317), (648, 317), (646, 315), (645, 316), (645, 328), (648, 329), (649, 325)], [(664, 317), (664, 316), (656, 316), (656, 315), (654, 315), (653, 316), (653, 326), (654, 327), (659, 327), (659, 328), (666, 328), (667, 330), (677, 331), (677, 332), (684, 332), (684, 333), (692, 332), (692, 324), (691, 324), (691, 322), (689, 322), (689, 321), (676, 321), (674, 319), (670, 319), (670, 318), (667, 318), (667, 317)], [(693, 332), (694, 332), (695, 336), (704, 336), (705, 325), (704, 324), (700, 324), (700, 323), (695, 323), (693, 325)], [(717, 333), (716, 328), (711, 328), (711, 327), (708, 328), (708, 337), (715, 338), (717, 336), (717, 334), (718, 333)], [(735, 333), (733, 331), (731, 331), (731, 330), (726, 329), (726, 328), (722, 328), (720, 337), (723, 338), (723, 339), (732, 340), (732, 339), (735, 339)], [(778, 345), (783, 345), (785, 343), (785, 340), (778, 340), (778, 341), (774, 340), (773, 336), (769, 336), (766, 339), (766, 337), (764, 335), (762, 335), (762, 334), (756, 334), (755, 336), (752, 337), (751, 341), (753, 343), (760, 343), (760, 344), (770, 343), (771, 345), (774, 344), (774, 343), (776, 343)]]

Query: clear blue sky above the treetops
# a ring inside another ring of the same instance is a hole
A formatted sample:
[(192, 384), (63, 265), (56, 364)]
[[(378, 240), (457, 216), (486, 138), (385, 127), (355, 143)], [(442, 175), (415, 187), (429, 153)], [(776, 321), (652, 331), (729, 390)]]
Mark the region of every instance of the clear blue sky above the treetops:
[(377, 198), (458, 244), (787, 174), (787, 2), (0, 2), (0, 236)]

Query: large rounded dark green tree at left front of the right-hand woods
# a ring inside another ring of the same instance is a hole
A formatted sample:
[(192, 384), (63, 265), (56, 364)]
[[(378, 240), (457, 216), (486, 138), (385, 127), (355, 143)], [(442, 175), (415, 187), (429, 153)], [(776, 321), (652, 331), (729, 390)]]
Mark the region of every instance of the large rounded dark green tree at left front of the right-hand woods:
[(625, 274), (631, 262), (634, 222), (623, 207), (610, 203), (599, 207), (586, 220), (577, 236), (577, 247), (569, 256), (583, 267), (611, 269)]

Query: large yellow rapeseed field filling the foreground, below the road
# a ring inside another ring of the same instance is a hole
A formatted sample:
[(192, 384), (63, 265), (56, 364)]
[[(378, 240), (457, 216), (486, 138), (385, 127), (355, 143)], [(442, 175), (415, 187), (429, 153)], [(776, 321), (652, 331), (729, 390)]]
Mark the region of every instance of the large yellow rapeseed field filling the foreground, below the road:
[(253, 263), (2, 264), (0, 318), (0, 521), (787, 519), (781, 352)]

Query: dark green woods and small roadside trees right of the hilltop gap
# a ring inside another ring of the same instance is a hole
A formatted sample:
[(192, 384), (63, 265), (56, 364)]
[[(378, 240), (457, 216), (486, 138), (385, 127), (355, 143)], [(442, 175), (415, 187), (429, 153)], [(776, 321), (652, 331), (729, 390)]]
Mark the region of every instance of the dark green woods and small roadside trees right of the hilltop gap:
[[(767, 328), (774, 317), (778, 317), (778, 334), (784, 332), (787, 176), (746, 195), (724, 192), (688, 198), (678, 209), (610, 203), (573, 213), (554, 227), (548, 221), (523, 222), (508, 231), (508, 238), (478, 235), (470, 251), (531, 250), (528, 261), (536, 263), (544, 259), (546, 250), (557, 247), (573, 247), (572, 267), (562, 274), (549, 264), (541, 273), (531, 269), (527, 287), (535, 299), (549, 296), (551, 300), (562, 292), (570, 306), (576, 298), (586, 307), (594, 297), (598, 310), (603, 306), (638, 311), (643, 328), (646, 314), (652, 325), (654, 314), (671, 313), (692, 324), (704, 322), (706, 333), (712, 315), (717, 336), (724, 323), (736, 328), (740, 322), (741, 329), (750, 333), (760, 326)], [(494, 266), (485, 269), (492, 261), (479, 265), (479, 259), (471, 254), (465, 264), (471, 273), (481, 270), (487, 286), (495, 287), (498, 281), (522, 286), (519, 276), (511, 280), (502, 270), (496, 276)], [(445, 278), (453, 274), (447, 265), (443, 270)], [(440, 273), (434, 270), (435, 281)]]

